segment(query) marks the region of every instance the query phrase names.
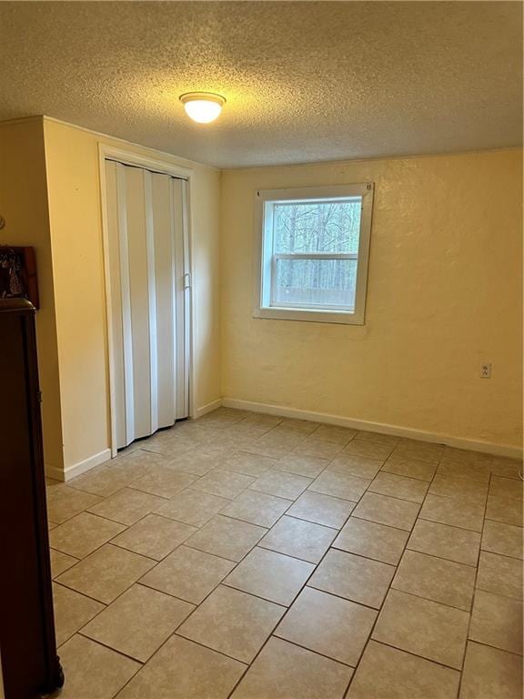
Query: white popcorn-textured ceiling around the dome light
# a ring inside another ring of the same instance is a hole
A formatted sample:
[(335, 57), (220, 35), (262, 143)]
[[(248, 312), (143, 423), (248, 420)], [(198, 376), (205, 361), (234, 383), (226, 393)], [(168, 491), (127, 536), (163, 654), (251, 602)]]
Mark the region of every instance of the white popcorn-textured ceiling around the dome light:
[(518, 2), (0, 2), (0, 119), (218, 167), (515, 146), (521, 27)]

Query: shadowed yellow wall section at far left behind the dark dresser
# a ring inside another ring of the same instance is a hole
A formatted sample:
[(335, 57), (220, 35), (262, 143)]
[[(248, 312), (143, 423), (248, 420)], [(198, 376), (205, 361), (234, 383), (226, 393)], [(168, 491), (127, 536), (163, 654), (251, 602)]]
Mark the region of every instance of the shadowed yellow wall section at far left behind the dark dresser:
[(0, 124), (0, 245), (35, 248), (40, 310), (36, 314), (45, 464), (63, 468), (53, 265), (45, 188), (42, 117)]

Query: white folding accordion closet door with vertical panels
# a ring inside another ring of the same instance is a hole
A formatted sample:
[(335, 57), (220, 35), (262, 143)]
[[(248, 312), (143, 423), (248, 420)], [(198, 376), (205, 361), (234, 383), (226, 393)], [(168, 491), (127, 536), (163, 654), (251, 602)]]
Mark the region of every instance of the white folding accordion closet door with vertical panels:
[(186, 182), (106, 160), (118, 448), (188, 414)]

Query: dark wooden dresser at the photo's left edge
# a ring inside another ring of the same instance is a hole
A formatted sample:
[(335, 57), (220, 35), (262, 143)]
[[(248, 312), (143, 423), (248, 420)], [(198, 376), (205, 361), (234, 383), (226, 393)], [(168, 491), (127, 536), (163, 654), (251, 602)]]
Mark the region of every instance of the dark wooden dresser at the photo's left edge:
[(0, 654), (5, 699), (63, 684), (45, 511), (35, 309), (0, 299)]

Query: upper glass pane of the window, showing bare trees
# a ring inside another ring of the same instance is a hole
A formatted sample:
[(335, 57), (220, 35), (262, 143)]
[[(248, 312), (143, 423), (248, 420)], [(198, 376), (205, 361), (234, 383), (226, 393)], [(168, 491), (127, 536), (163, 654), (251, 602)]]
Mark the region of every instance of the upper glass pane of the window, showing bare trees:
[(275, 204), (273, 251), (358, 253), (361, 202), (358, 197)]

